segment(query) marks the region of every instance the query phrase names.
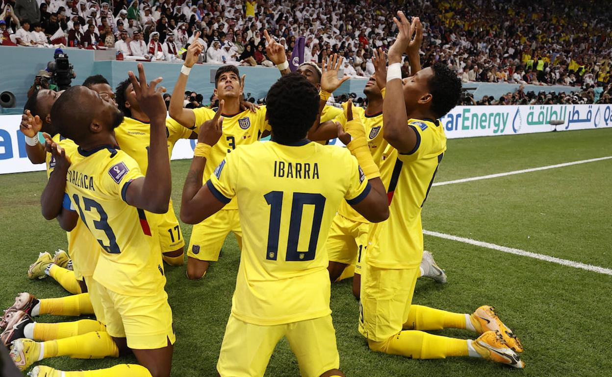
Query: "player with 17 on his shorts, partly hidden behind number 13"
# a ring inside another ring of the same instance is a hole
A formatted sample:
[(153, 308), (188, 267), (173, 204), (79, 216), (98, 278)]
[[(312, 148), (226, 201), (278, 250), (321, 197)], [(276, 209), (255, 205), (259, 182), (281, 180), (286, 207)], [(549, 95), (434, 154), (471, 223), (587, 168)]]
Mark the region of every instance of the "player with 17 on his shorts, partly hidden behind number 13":
[[(116, 88), (116, 101), (125, 117), (121, 125), (117, 127), (115, 136), (119, 147), (130, 157), (136, 160), (141, 172), (147, 171), (149, 133), (151, 125), (149, 117), (140, 108), (136, 100), (132, 82), (126, 79), (119, 83)], [(179, 123), (166, 117), (166, 136), (168, 137), (168, 156), (172, 155), (174, 144), (179, 139), (195, 139), (197, 134), (193, 133)], [(184, 262), (185, 240), (181, 232), (172, 199), (168, 205), (168, 212), (163, 214), (147, 213), (152, 226), (159, 230), (159, 240), (161, 243), (163, 260), (171, 266), (181, 266)]]

